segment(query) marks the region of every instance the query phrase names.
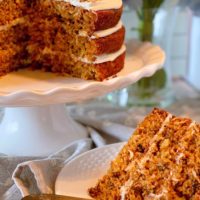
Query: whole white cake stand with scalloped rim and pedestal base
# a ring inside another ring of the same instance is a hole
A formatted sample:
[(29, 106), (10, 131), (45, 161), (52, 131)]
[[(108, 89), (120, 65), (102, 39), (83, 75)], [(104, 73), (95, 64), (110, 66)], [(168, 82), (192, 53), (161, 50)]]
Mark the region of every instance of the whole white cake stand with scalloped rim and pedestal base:
[[(134, 45), (133, 45), (134, 44)], [(64, 103), (76, 103), (126, 87), (153, 75), (165, 54), (150, 43), (133, 43), (124, 69), (103, 82), (22, 70), (0, 78), (0, 153), (46, 156), (87, 137), (87, 131), (67, 115)]]

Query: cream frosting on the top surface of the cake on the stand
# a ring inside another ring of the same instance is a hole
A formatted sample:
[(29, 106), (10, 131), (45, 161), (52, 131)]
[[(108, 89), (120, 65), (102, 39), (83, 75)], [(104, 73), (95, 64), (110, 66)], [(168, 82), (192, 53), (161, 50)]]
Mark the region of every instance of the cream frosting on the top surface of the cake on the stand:
[(91, 2), (81, 2), (80, 0), (63, 1), (69, 2), (73, 6), (82, 7), (86, 10), (93, 11), (119, 9), (122, 6), (122, 0), (93, 0)]

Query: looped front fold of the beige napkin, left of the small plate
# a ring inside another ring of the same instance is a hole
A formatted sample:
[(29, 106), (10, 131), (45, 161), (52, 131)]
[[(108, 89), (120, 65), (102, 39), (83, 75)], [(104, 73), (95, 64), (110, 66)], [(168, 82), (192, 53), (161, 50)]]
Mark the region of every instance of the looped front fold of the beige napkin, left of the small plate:
[[(63, 165), (91, 148), (92, 140), (82, 139), (73, 142), (46, 159), (19, 164), (13, 173), (13, 180), (21, 195), (24, 197), (29, 194), (54, 193), (56, 177)], [(4, 195), (5, 200), (11, 198), (12, 196), (8, 192)]]

